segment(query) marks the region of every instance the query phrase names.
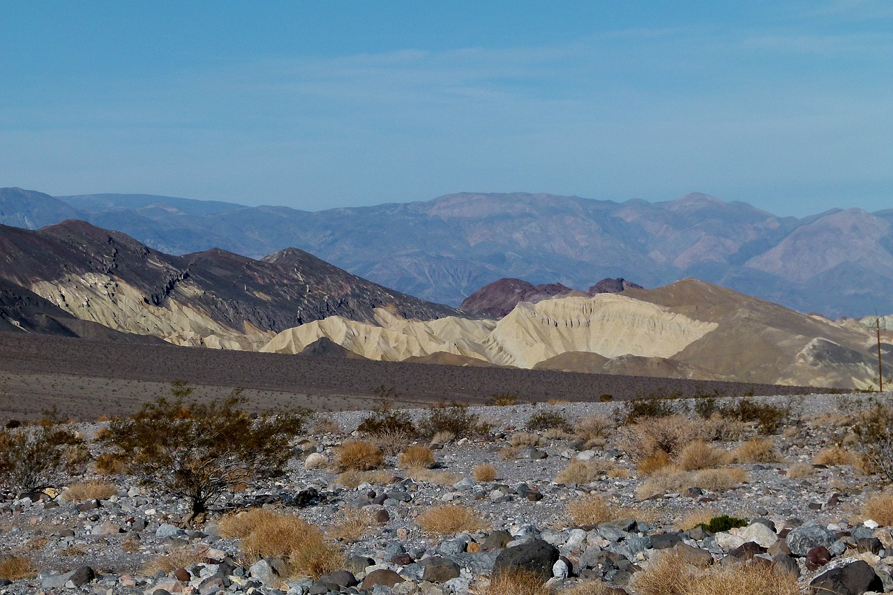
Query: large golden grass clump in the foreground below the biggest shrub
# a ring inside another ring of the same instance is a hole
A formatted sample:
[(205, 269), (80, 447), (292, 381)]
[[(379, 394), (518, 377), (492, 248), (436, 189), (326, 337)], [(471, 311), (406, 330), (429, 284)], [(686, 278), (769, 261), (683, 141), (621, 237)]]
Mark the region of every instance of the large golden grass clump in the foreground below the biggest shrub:
[(238, 537), (249, 557), (284, 557), (290, 574), (312, 576), (338, 570), (344, 555), (337, 545), (303, 518), (251, 508), (224, 516), (217, 524), (221, 537)]

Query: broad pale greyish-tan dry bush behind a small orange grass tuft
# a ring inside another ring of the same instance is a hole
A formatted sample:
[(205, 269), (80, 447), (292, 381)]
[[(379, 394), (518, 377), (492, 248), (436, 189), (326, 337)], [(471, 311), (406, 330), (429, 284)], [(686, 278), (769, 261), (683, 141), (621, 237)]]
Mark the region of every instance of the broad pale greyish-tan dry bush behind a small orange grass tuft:
[(676, 457), (689, 442), (704, 437), (704, 424), (682, 415), (642, 417), (619, 434), (618, 448), (638, 462), (658, 451)]

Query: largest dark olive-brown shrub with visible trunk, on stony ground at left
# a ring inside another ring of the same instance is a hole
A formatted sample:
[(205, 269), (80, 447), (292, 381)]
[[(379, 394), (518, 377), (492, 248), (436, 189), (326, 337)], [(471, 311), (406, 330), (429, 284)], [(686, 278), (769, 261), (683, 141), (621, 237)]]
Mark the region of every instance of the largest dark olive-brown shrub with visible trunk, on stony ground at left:
[(113, 420), (101, 441), (139, 482), (187, 499), (194, 518), (227, 490), (284, 474), (289, 443), (307, 413), (252, 419), (239, 408), (246, 402), (240, 390), (204, 404), (187, 403), (190, 393), (185, 384), (174, 384), (173, 398)]

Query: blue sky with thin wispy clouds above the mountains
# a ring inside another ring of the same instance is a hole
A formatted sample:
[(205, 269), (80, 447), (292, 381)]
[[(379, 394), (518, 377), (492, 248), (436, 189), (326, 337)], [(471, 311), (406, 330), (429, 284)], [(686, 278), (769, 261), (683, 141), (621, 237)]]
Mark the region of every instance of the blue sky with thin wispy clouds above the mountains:
[(893, 2), (0, 0), (0, 187), (893, 207)]

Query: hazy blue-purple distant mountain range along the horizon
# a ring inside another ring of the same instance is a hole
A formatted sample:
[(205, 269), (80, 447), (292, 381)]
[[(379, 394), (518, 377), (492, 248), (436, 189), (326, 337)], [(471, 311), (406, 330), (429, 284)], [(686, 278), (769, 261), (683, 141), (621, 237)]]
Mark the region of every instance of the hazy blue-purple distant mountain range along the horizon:
[(801, 312), (893, 312), (893, 209), (779, 217), (702, 194), (625, 203), (473, 194), (317, 213), (148, 195), (50, 197), (0, 189), (0, 222), (80, 218), (148, 247), (261, 257), (298, 247), (363, 278), (458, 306), (505, 277), (584, 289), (623, 276), (693, 276)]

